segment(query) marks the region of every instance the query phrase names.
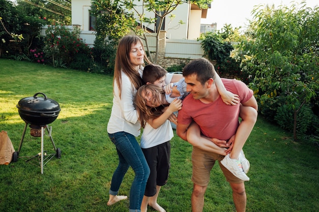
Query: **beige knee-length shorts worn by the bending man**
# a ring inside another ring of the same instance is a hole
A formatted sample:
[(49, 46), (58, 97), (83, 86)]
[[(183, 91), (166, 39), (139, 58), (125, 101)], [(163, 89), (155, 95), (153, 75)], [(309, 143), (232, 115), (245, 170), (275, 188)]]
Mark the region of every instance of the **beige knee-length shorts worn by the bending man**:
[(222, 169), (226, 180), (229, 183), (239, 184), (244, 182), (238, 177), (235, 177), (228, 169), (226, 169), (220, 161), (223, 160), (225, 156), (206, 152), (197, 147), (193, 146), (192, 152), (192, 163), (193, 163), (193, 175), (192, 181), (194, 184), (199, 186), (207, 186), (210, 178), (210, 171), (215, 164), (215, 161), (219, 162), (219, 166)]

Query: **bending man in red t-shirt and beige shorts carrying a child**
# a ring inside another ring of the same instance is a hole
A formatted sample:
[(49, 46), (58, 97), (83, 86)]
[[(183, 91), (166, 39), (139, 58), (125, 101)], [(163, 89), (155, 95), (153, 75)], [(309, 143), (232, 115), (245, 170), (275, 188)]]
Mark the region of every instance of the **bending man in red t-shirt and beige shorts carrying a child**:
[[(236, 134), (240, 125), (238, 122), (240, 104), (226, 105), (223, 103), (214, 83), (214, 66), (207, 59), (194, 59), (184, 67), (183, 76), (187, 83), (187, 92), (190, 92), (190, 94), (183, 100), (182, 109), (178, 112), (177, 135), (187, 141), (188, 127), (192, 122), (196, 122), (201, 133), (206, 137), (214, 138), (211, 140), (218, 146), (232, 148), (233, 145), (230, 142), (236, 142), (238, 139), (245, 139), (246, 141), (250, 131), (246, 133), (248, 134), (247, 137), (240, 138), (240, 136), (237, 136), (234, 141), (230, 139)], [(257, 110), (257, 102), (253, 92), (245, 83), (235, 79), (222, 79), (222, 81), (227, 90), (239, 96), (242, 105)], [(207, 142), (210, 141), (207, 140)], [(215, 161), (220, 162), (224, 157), (207, 151), (206, 148), (202, 148), (202, 144), (193, 145), (193, 212), (203, 210), (204, 194), (209, 183), (210, 170)], [(221, 163), (220, 167), (232, 188), (236, 211), (245, 211), (247, 198), (244, 180), (234, 176)]]

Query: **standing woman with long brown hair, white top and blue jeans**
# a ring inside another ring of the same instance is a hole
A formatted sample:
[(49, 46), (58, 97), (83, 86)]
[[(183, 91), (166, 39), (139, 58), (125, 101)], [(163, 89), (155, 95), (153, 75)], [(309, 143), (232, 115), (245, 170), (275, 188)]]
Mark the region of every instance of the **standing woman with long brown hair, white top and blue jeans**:
[(119, 158), (119, 164), (112, 177), (108, 205), (127, 198), (127, 196), (119, 196), (118, 192), (126, 171), (132, 167), (135, 177), (130, 188), (129, 212), (141, 211), (145, 186), (150, 173), (136, 140), (136, 137), (140, 135), (141, 124), (133, 103), (137, 89), (143, 84), (144, 60), (150, 63), (145, 55), (142, 40), (138, 36), (124, 36), (116, 52), (114, 98), (108, 123), (108, 134), (116, 146)]

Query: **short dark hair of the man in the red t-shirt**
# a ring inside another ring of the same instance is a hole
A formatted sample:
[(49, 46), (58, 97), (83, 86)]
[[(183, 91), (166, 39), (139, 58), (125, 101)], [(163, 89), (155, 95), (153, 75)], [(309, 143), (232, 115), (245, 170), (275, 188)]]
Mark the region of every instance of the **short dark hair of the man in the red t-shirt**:
[(209, 60), (205, 58), (193, 59), (183, 68), (183, 77), (190, 75), (196, 75), (197, 81), (199, 81), (201, 84), (205, 84), (209, 78), (215, 80), (214, 65), (212, 65)]

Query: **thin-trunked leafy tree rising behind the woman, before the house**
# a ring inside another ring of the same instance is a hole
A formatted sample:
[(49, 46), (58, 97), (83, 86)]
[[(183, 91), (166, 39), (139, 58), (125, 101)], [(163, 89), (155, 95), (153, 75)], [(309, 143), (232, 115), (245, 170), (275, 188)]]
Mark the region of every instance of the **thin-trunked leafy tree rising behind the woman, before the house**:
[[(134, 31), (137, 35), (146, 43), (146, 49), (151, 62), (156, 63), (158, 55), (159, 44), (159, 32), (161, 31), (164, 19), (166, 17), (175, 18), (172, 12), (176, 7), (183, 3), (191, 3), (199, 6), (202, 9), (206, 9), (211, 0), (167, 0), (167, 1), (150, 1), (139, 0), (139, 4), (136, 4), (134, 0), (93, 0), (92, 3), (95, 6), (94, 14), (97, 15), (99, 21), (105, 20), (102, 24), (97, 24), (97, 32), (104, 32), (105, 35), (122, 35), (123, 32), (127, 34), (129, 31)], [(142, 11), (142, 12), (139, 12)], [(145, 11), (153, 12), (154, 18), (147, 18)], [(169, 16), (170, 15), (170, 16)], [(102, 16), (104, 16), (102, 18)], [(137, 18), (134, 18), (134, 17)], [(180, 22), (181, 23), (181, 22)], [(147, 26), (149, 24), (156, 24), (156, 52), (153, 59), (151, 51), (147, 42), (147, 35), (151, 35), (148, 32)]]

